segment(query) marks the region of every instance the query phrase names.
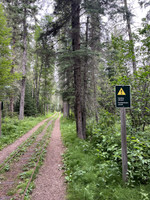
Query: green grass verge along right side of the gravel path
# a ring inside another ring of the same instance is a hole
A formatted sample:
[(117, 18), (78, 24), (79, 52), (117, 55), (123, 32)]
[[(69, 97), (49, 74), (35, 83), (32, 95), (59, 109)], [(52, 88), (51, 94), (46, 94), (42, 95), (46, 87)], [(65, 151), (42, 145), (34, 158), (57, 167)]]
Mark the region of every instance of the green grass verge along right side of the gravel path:
[(77, 138), (74, 121), (61, 118), (61, 133), (68, 200), (150, 199), (150, 184), (125, 185), (116, 162), (100, 159), (92, 142)]

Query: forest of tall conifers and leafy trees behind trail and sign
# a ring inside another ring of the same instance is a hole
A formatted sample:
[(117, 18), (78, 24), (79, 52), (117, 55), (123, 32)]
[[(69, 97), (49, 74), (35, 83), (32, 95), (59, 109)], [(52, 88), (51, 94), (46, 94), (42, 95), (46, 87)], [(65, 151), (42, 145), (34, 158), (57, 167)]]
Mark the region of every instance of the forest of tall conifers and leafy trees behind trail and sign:
[[(146, 12), (137, 28), (133, 3)], [(85, 139), (88, 119), (98, 123), (102, 113), (118, 112), (115, 85), (131, 85), (127, 114), (133, 128), (144, 130), (150, 123), (150, 2), (54, 0), (53, 14), (39, 16), (42, 4), (1, 1), (3, 116), (21, 120), (64, 105)]]

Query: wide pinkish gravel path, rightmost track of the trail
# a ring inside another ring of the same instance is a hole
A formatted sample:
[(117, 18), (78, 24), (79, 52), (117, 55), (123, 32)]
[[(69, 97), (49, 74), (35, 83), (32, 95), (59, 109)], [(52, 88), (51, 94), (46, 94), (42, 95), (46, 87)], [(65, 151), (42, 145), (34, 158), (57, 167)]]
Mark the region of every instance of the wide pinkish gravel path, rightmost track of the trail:
[(60, 120), (55, 122), (47, 148), (46, 159), (35, 180), (32, 200), (65, 200), (66, 185), (62, 168), (64, 146), (61, 141)]

